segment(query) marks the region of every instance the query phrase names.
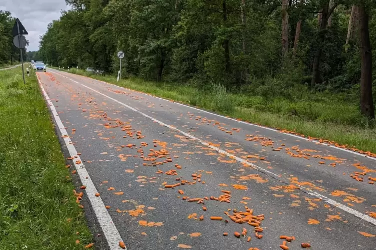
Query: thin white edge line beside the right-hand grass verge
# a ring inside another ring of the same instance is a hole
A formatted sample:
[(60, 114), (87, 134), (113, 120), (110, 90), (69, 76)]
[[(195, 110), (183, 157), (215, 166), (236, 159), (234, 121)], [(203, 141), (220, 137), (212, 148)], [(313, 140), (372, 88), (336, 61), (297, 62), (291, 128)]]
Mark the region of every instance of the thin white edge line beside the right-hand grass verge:
[[(61, 75), (59, 73), (56, 73), (56, 72), (54, 72), (54, 73), (58, 74), (60, 76), (66, 77), (66, 76)], [(86, 78), (89, 78), (90, 80), (93, 80), (93, 81), (97, 81), (97, 82), (100, 82), (100, 83), (111, 85), (113, 87), (125, 89), (125, 90), (128, 90), (128, 91), (134, 91), (134, 90), (127, 89), (127, 88), (124, 88), (124, 87), (121, 87), (121, 86), (118, 86), (118, 85), (115, 85), (115, 84), (112, 84), (112, 83), (107, 83), (107, 82), (104, 82), (104, 81), (93, 79), (93, 78), (90, 78), (90, 77), (87, 77), (87, 76), (82, 76), (82, 77), (86, 77)], [(66, 77), (66, 78), (68, 78), (68, 77)], [(72, 79), (70, 79), (70, 80), (72, 80)], [(225, 119), (228, 119), (228, 120), (231, 120), (231, 121), (234, 121), (234, 122), (238, 122), (238, 123), (242, 123), (242, 124), (246, 124), (246, 125), (250, 125), (250, 126), (255, 126), (255, 127), (259, 127), (259, 128), (263, 128), (263, 129), (270, 130), (270, 131), (273, 131), (273, 132), (277, 132), (277, 133), (280, 133), (280, 134), (284, 134), (284, 135), (287, 135), (287, 136), (291, 136), (291, 137), (295, 137), (295, 138), (302, 139), (302, 140), (305, 140), (305, 141), (309, 141), (309, 142), (312, 142), (312, 143), (315, 143), (315, 144), (318, 144), (318, 145), (328, 146), (330, 148), (341, 150), (341, 151), (344, 151), (344, 152), (347, 152), (347, 153), (352, 153), (352, 154), (355, 154), (355, 155), (358, 155), (358, 156), (362, 156), (362, 157), (366, 157), (367, 159), (371, 159), (371, 160), (375, 160), (376, 161), (375, 157), (367, 156), (367, 155), (364, 155), (364, 154), (361, 154), (361, 153), (357, 153), (357, 152), (354, 152), (354, 151), (351, 151), (351, 150), (348, 150), (348, 149), (345, 149), (345, 148), (336, 147), (336, 146), (333, 146), (333, 145), (330, 145), (330, 144), (327, 144), (327, 143), (320, 143), (318, 140), (312, 140), (312, 139), (308, 139), (308, 138), (305, 138), (305, 137), (302, 137), (302, 136), (298, 136), (298, 135), (295, 135), (295, 134), (281, 132), (280, 130), (277, 130), (277, 129), (274, 129), (274, 128), (270, 128), (270, 127), (266, 127), (266, 126), (260, 126), (260, 125), (257, 125), (257, 124), (253, 124), (253, 123), (249, 123), (249, 122), (247, 123), (247, 122), (244, 122), (244, 121), (238, 121), (238, 120), (236, 120), (234, 118), (231, 118), (231, 117), (225, 117), (225, 116), (222, 116), (222, 115), (219, 115), (219, 114), (212, 113), (210, 111), (201, 110), (201, 109), (198, 109), (198, 108), (195, 108), (195, 107), (192, 107), (192, 106), (189, 106), (189, 105), (185, 105), (185, 104), (182, 104), (182, 103), (178, 103), (178, 102), (169, 101), (167, 99), (163, 99), (161, 97), (153, 96), (153, 95), (150, 95), (150, 94), (147, 94), (147, 93), (143, 93), (143, 92), (136, 92), (136, 93), (143, 94), (143, 95), (150, 96), (150, 97), (154, 97), (154, 98), (157, 98), (157, 99), (169, 102), (169, 103), (175, 103), (175, 104), (178, 104), (178, 105), (190, 108), (190, 109), (194, 109), (194, 110), (197, 110), (197, 111), (200, 111), (200, 112), (211, 114), (213, 116), (225, 118)]]

